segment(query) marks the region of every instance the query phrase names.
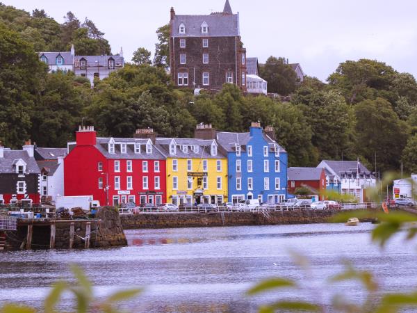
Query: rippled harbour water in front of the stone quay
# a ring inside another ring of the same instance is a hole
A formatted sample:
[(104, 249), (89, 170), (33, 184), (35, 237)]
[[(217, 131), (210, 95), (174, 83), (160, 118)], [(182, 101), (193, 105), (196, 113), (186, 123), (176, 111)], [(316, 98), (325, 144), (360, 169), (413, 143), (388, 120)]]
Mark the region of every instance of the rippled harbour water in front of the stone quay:
[[(326, 281), (343, 269), (343, 259), (373, 271), (384, 291), (416, 287), (415, 246), (399, 234), (381, 250), (370, 241), (372, 228), (362, 223), (129, 230), (129, 246), (124, 248), (4, 252), (0, 305), (11, 300), (41, 308), (52, 282), (72, 279), (71, 263), (85, 270), (99, 298), (145, 287), (138, 298), (122, 305), (132, 312), (255, 312), (259, 304), (277, 298), (329, 303), (334, 294), (363, 301), (356, 282)], [(290, 251), (309, 257), (311, 277), (295, 266)], [(274, 276), (304, 283), (299, 291), (245, 296), (254, 283)], [(71, 307), (70, 296), (65, 296), (60, 309)]]

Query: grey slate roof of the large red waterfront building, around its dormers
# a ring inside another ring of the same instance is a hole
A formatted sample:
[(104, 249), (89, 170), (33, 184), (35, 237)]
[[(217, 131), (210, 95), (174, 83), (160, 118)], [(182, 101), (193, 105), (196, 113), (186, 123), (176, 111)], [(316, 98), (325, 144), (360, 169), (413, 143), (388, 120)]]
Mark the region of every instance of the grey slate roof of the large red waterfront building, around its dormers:
[[(155, 145), (152, 145), (152, 154), (146, 153), (146, 143), (148, 139), (139, 139), (139, 138), (113, 138), (115, 141), (115, 153), (108, 152), (108, 143), (111, 138), (97, 138), (97, 150), (101, 152), (107, 159), (126, 159), (126, 160), (135, 160), (135, 159), (144, 159), (144, 160), (161, 160), (165, 159), (165, 156), (156, 149)], [(119, 144), (118, 144), (119, 143)], [(120, 143), (126, 143), (126, 153), (120, 152)], [(135, 143), (140, 143), (140, 154), (135, 153)]]

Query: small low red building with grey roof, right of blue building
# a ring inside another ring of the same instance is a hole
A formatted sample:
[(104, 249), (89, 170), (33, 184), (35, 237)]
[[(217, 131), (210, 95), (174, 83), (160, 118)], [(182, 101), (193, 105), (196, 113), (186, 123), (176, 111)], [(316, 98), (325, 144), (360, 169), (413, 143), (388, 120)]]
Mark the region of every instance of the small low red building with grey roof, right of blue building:
[(320, 195), (326, 191), (326, 173), (324, 168), (288, 168), (288, 193), (295, 194), (297, 188), (304, 187), (311, 195)]

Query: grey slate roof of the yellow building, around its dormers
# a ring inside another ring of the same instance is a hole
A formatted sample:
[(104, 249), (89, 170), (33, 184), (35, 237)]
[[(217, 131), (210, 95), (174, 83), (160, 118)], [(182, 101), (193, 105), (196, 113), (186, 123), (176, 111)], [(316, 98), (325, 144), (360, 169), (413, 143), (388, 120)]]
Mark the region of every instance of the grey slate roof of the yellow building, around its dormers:
[[(170, 143), (174, 139), (175, 143), (177, 143), (177, 153), (175, 155), (170, 154)], [(225, 159), (226, 155), (222, 154), (222, 152), (218, 149), (217, 155), (211, 155), (211, 144), (213, 140), (206, 140), (206, 139), (197, 139), (197, 138), (156, 138), (156, 145), (157, 147), (165, 154), (165, 157), (175, 158), (175, 159)], [(216, 143), (217, 144), (217, 143)], [(183, 152), (179, 146), (180, 145), (188, 145), (188, 152)], [(198, 152), (194, 152), (190, 146), (198, 145)]]

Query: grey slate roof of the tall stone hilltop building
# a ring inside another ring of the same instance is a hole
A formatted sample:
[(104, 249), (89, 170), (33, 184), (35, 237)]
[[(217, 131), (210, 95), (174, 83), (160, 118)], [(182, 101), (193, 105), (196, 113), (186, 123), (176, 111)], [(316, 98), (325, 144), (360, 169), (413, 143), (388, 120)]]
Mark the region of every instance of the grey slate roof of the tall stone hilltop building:
[[(202, 33), (206, 22), (208, 33)], [(186, 33), (179, 33), (179, 25), (186, 26)], [(173, 37), (236, 37), (239, 35), (238, 15), (174, 15), (172, 19)]]

